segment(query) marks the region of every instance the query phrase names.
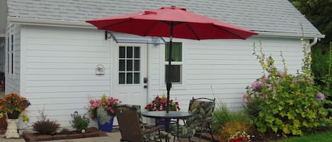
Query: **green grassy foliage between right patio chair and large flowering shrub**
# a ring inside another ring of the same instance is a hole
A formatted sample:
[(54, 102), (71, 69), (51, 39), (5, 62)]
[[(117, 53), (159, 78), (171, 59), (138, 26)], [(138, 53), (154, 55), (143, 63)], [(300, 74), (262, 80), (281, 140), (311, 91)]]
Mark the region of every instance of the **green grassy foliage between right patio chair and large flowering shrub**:
[(241, 123), (248, 121), (248, 115), (244, 113), (244, 111), (231, 112), (224, 102), (214, 110), (212, 117), (214, 121), (212, 124), (212, 131), (214, 134), (218, 134), (222, 127), (228, 122), (236, 121)]

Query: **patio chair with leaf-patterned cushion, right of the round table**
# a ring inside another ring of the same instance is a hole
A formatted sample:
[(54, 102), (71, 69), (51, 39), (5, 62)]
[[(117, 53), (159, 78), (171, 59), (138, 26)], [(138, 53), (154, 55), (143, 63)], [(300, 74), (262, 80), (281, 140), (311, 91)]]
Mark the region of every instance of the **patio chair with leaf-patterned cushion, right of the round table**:
[(171, 134), (174, 136), (174, 140), (177, 134), (181, 138), (188, 138), (189, 141), (195, 134), (199, 134), (201, 141), (202, 133), (209, 131), (212, 141), (214, 141), (211, 130), (212, 112), (214, 111), (214, 106), (215, 99), (212, 100), (205, 97), (195, 99), (193, 97), (193, 100), (190, 100), (189, 102), (188, 109), (188, 112), (192, 113), (193, 117), (186, 119), (184, 126), (172, 125)]

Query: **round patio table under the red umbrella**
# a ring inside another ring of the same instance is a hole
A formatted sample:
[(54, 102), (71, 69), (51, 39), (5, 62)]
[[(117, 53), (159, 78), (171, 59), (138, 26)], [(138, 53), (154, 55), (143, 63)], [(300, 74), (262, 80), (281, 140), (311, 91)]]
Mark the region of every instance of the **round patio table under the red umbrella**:
[[(167, 133), (169, 133), (170, 119), (176, 119), (177, 137), (178, 137), (178, 119), (186, 119), (188, 117), (192, 117), (193, 114), (189, 112), (176, 112), (176, 111), (170, 111), (168, 113), (166, 113), (166, 111), (152, 111), (152, 112), (142, 112), (142, 116), (154, 119), (166, 119), (165, 130)], [(168, 136), (166, 136), (165, 141), (166, 142), (169, 141)], [(180, 138), (178, 138), (178, 141), (180, 141)]]

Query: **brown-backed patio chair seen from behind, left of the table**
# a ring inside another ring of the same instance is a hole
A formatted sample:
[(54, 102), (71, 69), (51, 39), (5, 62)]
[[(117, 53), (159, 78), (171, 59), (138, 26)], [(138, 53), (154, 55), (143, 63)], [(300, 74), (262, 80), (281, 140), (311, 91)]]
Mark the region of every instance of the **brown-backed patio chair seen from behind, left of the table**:
[(165, 132), (160, 131), (164, 126), (145, 129), (139, 105), (119, 105), (116, 114), (122, 137), (120, 142), (161, 141), (166, 136)]

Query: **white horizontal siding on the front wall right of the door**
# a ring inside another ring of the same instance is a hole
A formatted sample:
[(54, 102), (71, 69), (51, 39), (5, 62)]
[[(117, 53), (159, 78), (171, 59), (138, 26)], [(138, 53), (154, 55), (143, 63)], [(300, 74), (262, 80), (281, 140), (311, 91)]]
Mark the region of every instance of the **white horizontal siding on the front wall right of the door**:
[[(183, 111), (188, 110), (192, 97), (215, 97), (217, 103), (227, 102), (229, 108), (239, 110), (246, 85), (263, 75), (258, 60), (252, 55), (253, 42), (260, 49), (258, 38), (177, 41), (183, 42), (183, 85), (173, 85), (171, 99), (178, 100)], [(280, 70), (283, 69), (280, 51), (287, 60), (289, 73), (301, 69), (303, 55), (299, 39), (261, 37), (261, 42), (266, 56), (272, 54)], [(159, 81), (164, 80), (164, 66), (159, 65), (164, 63), (164, 48), (152, 48), (149, 57), (152, 99), (157, 94), (166, 94), (164, 81)]]

